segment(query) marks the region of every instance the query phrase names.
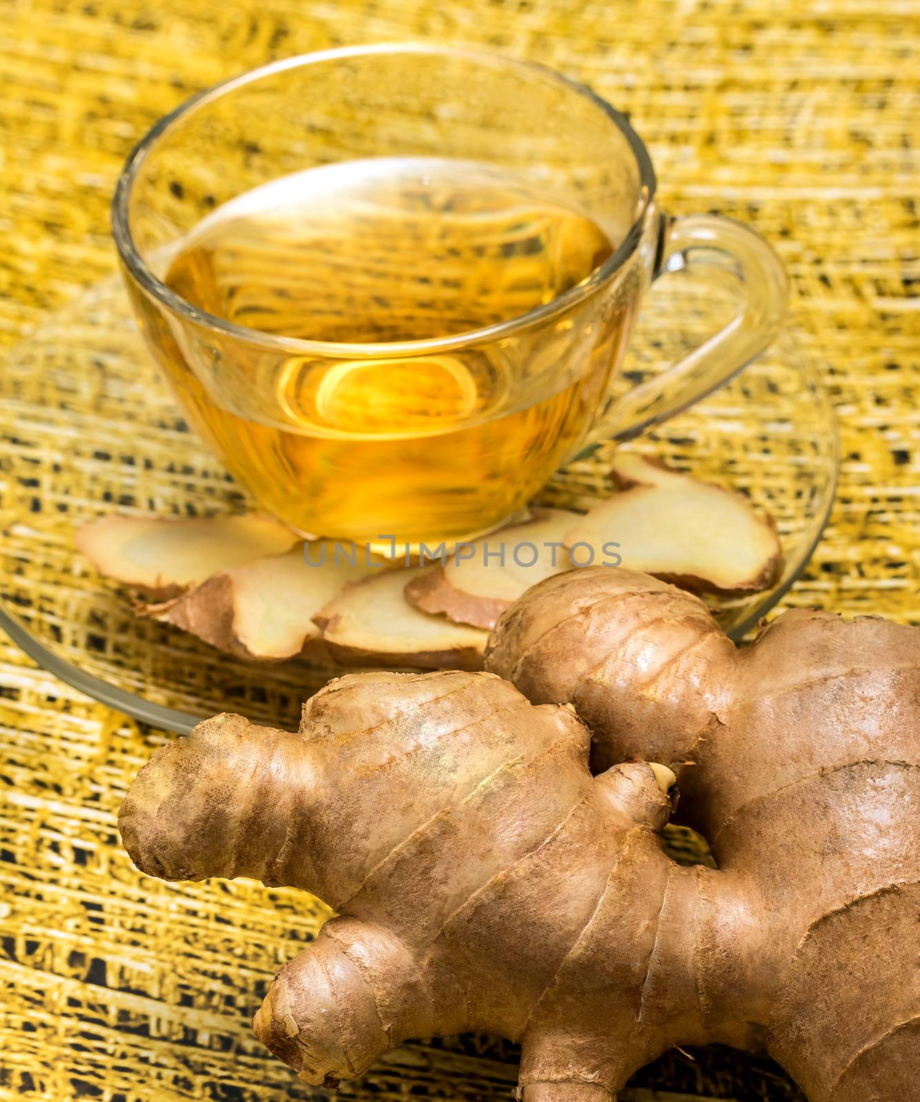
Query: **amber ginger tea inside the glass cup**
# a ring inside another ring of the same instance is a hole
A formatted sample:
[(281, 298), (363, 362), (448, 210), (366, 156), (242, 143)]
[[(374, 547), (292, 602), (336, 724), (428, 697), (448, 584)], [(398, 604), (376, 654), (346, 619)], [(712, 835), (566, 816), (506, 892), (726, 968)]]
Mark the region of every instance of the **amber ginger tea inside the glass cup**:
[(500, 523), (571, 453), (624, 320), (568, 314), (538, 339), (453, 349), (362, 346), (450, 338), (525, 314), (586, 280), (612, 248), (575, 205), (494, 166), (333, 164), (213, 212), (165, 282), (238, 325), (339, 347), (222, 349), (233, 361), (202, 381), (168, 329), (148, 335), (195, 426), (293, 528), (456, 540)]

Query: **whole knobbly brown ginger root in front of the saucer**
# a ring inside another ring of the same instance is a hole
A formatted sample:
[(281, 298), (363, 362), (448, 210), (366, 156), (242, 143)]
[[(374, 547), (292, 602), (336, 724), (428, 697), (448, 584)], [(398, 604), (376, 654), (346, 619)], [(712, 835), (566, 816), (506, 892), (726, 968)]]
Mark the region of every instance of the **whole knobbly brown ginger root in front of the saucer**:
[[(138, 867), (339, 912), (263, 1041), (324, 1085), (485, 1029), (521, 1041), (523, 1102), (610, 1102), (708, 1041), (768, 1048), (811, 1102), (916, 1096), (920, 631), (791, 613), (736, 652), (697, 598), (601, 568), (528, 591), (486, 660), (524, 695), (340, 678), (297, 734), (217, 716), (132, 785)], [(660, 846), (667, 767), (719, 872)]]

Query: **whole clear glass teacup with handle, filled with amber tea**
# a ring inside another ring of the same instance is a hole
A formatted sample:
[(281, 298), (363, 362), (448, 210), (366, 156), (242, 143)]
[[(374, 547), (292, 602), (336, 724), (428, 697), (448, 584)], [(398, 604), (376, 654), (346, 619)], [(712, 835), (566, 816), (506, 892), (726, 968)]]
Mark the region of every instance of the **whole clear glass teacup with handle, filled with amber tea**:
[[(190, 100), (128, 161), (114, 229), (191, 424), (292, 529), (372, 545), (498, 527), (580, 450), (739, 370), (787, 296), (757, 234), (657, 207), (645, 147), (588, 88), (421, 44)], [(646, 287), (712, 250), (745, 307), (612, 401)]]

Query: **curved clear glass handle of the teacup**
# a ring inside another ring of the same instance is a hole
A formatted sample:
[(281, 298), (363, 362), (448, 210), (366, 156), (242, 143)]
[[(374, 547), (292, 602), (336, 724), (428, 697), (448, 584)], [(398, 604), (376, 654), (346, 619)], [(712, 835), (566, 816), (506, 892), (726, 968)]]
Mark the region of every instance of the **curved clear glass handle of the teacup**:
[(727, 253), (737, 267), (747, 301), (718, 333), (662, 375), (618, 397), (592, 425), (579, 457), (605, 441), (630, 440), (665, 421), (721, 386), (769, 347), (785, 316), (785, 271), (770, 245), (752, 229), (720, 215), (662, 215), (660, 260), (653, 279), (706, 263), (713, 250)]

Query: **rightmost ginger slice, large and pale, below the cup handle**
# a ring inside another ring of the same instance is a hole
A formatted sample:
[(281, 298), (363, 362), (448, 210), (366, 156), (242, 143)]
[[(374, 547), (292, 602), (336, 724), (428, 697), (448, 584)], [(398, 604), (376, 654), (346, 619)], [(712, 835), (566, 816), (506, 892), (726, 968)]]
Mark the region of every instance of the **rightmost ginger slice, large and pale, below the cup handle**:
[(740, 594), (777, 580), (782, 551), (775, 528), (740, 494), (625, 452), (611, 474), (620, 493), (566, 532), (576, 565), (588, 558), (579, 544), (593, 549), (598, 563), (601, 544), (616, 540), (623, 566), (696, 593)]

